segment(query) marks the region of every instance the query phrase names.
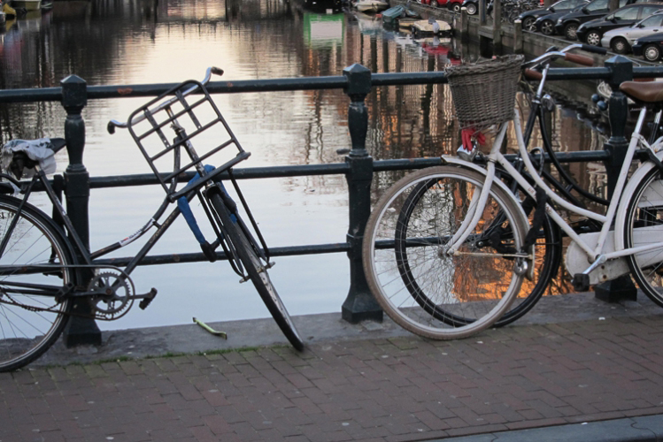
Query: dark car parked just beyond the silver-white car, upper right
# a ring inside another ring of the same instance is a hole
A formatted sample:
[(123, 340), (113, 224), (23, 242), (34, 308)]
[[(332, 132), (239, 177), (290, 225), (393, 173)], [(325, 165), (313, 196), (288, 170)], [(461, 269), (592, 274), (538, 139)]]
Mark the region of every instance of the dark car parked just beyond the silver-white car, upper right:
[(603, 19), (583, 23), (575, 31), (575, 37), (579, 42), (600, 46), (601, 38), (607, 31), (631, 26), (641, 19), (646, 19), (654, 12), (660, 11), (661, 8), (663, 8), (663, 4), (629, 4), (606, 15)]

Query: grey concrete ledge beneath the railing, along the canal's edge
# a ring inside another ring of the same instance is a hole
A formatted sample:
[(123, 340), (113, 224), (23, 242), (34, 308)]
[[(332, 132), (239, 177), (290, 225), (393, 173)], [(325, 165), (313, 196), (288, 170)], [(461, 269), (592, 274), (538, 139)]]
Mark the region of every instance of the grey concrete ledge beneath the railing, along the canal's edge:
[[(544, 296), (534, 309), (509, 327), (529, 324), (559, 324), (571, 321), (602, 321), (609, 317), (661, 315), (663, 309), (639, 293), (637, 301), (609, 303), (599, 301), (594, 293)], [(136, 316), (140, 312), (136, 312)], [(104, 331), (102, 345), (67, 348), (59, 339), (31, 367), (68, 365), (117, 359), (140, 359), (169, 354), (219, 352), (246, 347), (289, 346), (281, 330), (270, 318), (214, 322), (201, 318), (213, 329), (226, 331), (227, 339), (204, 331), (197, 324), (181, 324), (131, 330)], [(208, 322), (209, 321), (209, 322)], [(305, 344), (340, 342), (350, 339), (391, 339), (412, 336), (385, 315), (382, 323), (364, 321), (350, 324), (341, 313), (293, 316)], [(484, 331), (488, 333), (490, 331)], [(477, 335), (480, 336), (480, 335)]]

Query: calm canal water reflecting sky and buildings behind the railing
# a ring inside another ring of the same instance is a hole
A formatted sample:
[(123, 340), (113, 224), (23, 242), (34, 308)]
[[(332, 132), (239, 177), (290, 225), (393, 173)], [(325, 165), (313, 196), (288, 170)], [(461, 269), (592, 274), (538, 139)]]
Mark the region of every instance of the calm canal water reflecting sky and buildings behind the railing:
[[(90, 0), (56, 1), (51, 11), (9, 21), (0, 34), (0, 87), (58, 86), (70, 74), (88, 85), (171, 83), (200, 79), (206, 67), (225, 71), (225, 80), (339, 75), (354, 63), (372, 72), (439, 71), (473, 61), (478, 48), (451, 39), (413, 40), (385, 30), (379, 20), (327, 7), (305, 9), (283, 0)], [(314, 5), (320, 6), (320, 5)], [(216, 95), (229, 125), (251, 151), (240, 167), (328, 164), (343, 161), (337, 149), (350, 147), (348, 98), (341, 90)], [(125, 120), (144, 99), (89, 101), (84, 163), (90, 176), (147, 173), (127, 133), (106, 133), (110, 118)], [(439, 156), (459, 146), (451, 94), (444, 85), (374, 88), (367, 149), (382, 158)], [(520, 97), (525, 112), (527, 101)], [(59, 103), (0, 106), (0, 136), (64, 136)], [(552, 118), (560, 150), (602, 149), (605, 136), (577, 110), (559, 108)], [(540, 142), (538, 143), (540, 145)], [(58, 154), (58, 172), (66, 169)], [(603, 192), (596, 164), (571, 166), (592, 191)], [(381, 173), (374, 199), (405, 172)], [(242, 187), (272, 247), (343, 242), (348, 225), (343, 176), (256, 179)], [(93, 190), (90, 244), (102, 248), (135, 232), (151, 217), (163, 192), (157, 187)], [(47, 212), (45, 202), (38, 202)], [(137, 246), (114, 256), (132, 255)], [(197, 252), (197, 243), (178, 221), (153, 254)], [(343, 254), (282, 257), (271, 271), (274, 285), (293, 315), (337, 312), (349, 288)], [(138, 292), (154, 286), (150, 308), (134, 309), (105, 330), (266, 317), (258, 294), (227, 263), (142, 267), (134, 272)], [(569, 286), (556, 282), (554, 292)], [(305, 334), (306, 331), (303, 331)]]

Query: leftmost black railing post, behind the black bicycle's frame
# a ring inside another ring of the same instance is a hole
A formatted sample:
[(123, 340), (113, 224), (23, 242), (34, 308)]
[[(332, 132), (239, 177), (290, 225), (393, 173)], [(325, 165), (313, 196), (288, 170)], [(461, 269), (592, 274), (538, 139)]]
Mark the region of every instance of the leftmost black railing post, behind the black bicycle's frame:
[[(62, 106), (66, 110), (65, 139), (69, 154), (69, 165), (65, 171), (66, 210), (72, 220), (73, 227), (81, 237), (83, 244), (89, 248), (89, 173), (83, 165), (83, 149), (85, 148), (85, 121), (81, 111), (88, 103), (88, 91), (85, 80), (70, 75), (60, 82), (62, 86)], [(87, 284), (91, 278), (89, 270), (81, 271), (81, 284)], [(89, 315), (91, 309), (87, 300), (79, 298), (73, 305), (73, 313)], [(101, 345), (101, 331), (94, 319), (72, 316), (63, 333), (66, 347), (84, 344)]]

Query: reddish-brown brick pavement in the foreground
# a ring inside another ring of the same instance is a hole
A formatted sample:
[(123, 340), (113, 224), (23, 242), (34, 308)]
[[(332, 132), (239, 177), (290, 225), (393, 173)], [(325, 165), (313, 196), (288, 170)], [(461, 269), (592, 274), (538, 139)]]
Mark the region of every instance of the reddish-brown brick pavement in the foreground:
[(663, 413), (663, 314), (0, 375), (0, 440), (425, 440)]

